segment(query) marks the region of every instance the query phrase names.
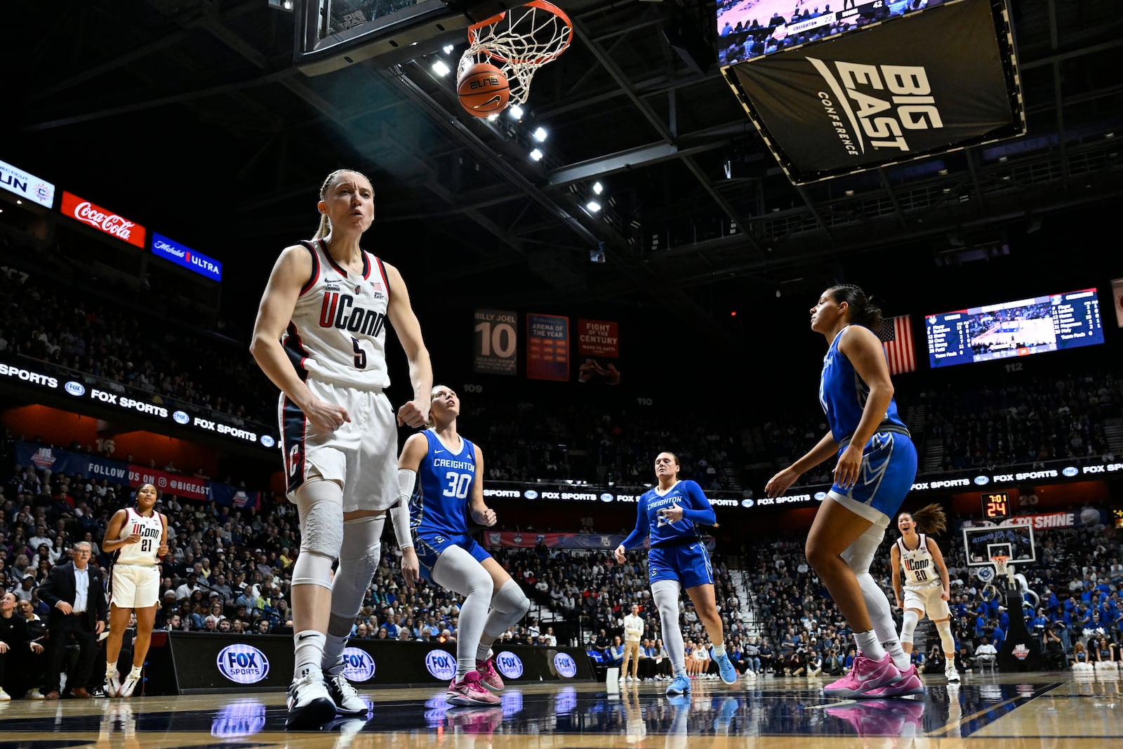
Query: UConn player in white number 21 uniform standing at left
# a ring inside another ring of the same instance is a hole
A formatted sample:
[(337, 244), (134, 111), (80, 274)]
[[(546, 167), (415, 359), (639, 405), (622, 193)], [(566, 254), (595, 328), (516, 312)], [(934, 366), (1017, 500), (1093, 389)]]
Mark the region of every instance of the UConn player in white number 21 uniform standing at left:
[[(110, 697), (131, 697), (140, 683), (140, 667), (148, 657), (159, 605), (159, 559), (167, 554), (167, 518), (156, 512), (159, 499), (156, 487), (141, 484), (136, 499), (135, 508), (121, 508), (113, 513), (101, 541), (104, 551), (113, 552), (106, 640), (106, 694)], [(137, 633), (133, 639), (133, 670), (120, 679), (117, 658), (134, 612)]]

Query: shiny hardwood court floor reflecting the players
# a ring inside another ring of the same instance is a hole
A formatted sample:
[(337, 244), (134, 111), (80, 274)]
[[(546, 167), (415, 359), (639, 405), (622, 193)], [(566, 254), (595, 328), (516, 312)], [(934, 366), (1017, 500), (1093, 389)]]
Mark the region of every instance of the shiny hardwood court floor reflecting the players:
[(1123, 746), (1113, 675), (967, 674), (960, 685), (928, 677), (923, 698), (828, 700), (822, 678), (695, 681), (687, 697), (659, 682), (510, 686), (502, 706), (450, 707), (444, 689), (366, 693), (366, 721), (318, 732), (284, 730), (277, 692), (0, 704), (0, 747), (186, 749), (287, 747), (1023, 747)]

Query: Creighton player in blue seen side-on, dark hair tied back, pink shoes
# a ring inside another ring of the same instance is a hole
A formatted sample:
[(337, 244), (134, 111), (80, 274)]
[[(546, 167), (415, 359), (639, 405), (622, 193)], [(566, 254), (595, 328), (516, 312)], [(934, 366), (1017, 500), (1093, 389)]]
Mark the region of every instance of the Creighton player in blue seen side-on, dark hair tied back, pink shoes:
[(923, 692), (901, 647), (888, 599), (869, 574), (889, 519), (916, 477), (916, 448), (897, 415), (882, 342), (882, 311), (852, 284), (831, 286), (811, 308), (827, 338), (819, 402), (830, 431), (765, 491), (778, 496), (810, 468), (838, 455), (834, 483), (807, 533), (807, 561), (846, 618), (858, 646), (853, 668), (823, 692), (893, 697)]

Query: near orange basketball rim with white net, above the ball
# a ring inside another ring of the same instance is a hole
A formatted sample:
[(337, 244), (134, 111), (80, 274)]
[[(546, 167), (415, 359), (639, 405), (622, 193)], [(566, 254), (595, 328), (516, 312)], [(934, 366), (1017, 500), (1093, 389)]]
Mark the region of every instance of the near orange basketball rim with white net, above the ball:
[(456, 76), (476, 63), (491, 63), (506, 76), (510, 102), (521, 104), (538, 68), (557, 60), (573, 42), (573, 22), (557, 6), (530, 0), (469, 26), (468, 42)]

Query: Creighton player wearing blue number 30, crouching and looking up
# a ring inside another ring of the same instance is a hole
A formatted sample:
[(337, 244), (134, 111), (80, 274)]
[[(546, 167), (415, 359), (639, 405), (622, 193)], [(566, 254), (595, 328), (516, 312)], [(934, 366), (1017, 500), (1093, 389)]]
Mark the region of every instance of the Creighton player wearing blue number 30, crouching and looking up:
[(469, 512), (481, 526), (494, 526), (495, 511), (484, 504), (483, 451), (457, 431), (459, 413), (460, 400), (451, 387), (432, 389), (429, 428), (405, 440), (398, 479), (401, 501), (409, 502), (421, 576), (464, 596), (456, 677), (445, 700), (453, 705), (494, 705), (501, 700), (485, 686), (502, 689), (503, 679), (491, 646), (526, 615), (530, 601), (468, 536)]

